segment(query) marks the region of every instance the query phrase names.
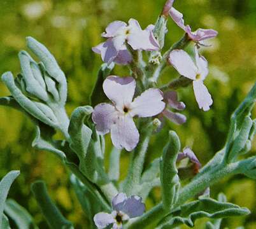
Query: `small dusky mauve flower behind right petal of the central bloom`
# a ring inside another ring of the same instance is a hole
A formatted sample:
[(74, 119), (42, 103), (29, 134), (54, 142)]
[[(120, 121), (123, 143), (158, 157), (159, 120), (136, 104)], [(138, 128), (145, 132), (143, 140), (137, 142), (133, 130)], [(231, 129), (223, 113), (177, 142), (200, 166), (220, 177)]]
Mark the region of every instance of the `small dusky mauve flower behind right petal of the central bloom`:
[[(176, 109), (178, 111), (183, 111), (183, 109), (186, 108), (185, 104), (183, 102), (178, 101), (178, 94), (174, 91), (169, 91), (164, 93), (164, 101), (169, 106), (169, 108)], [(185, 115), (180, 113), (174, 113), (173, 111), (170, 111), (166, 107), (164, 111), (162, 111), (162, 114), (168, 118), (170, 121), (173, 121), (174, 123), (181, 125), (187, 121), (187, 118)]]

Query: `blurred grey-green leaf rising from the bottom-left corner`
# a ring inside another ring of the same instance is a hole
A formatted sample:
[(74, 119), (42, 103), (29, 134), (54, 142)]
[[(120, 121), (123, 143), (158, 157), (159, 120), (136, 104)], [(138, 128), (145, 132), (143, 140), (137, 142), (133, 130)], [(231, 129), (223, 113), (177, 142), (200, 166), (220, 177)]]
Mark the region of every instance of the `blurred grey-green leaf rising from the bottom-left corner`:
[(29, 212), (15, 200), (6, 200), (4, 212), (15, 221), (18, 229), (38, 229)]

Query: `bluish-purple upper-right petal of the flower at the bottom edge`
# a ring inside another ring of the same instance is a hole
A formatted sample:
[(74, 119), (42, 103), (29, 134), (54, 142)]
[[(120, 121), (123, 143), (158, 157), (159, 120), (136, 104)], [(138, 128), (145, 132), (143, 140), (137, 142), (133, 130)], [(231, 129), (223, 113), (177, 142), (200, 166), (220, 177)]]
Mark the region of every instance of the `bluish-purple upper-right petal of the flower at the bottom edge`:
[(121, 211), (127, 214), (129, 218), (141, 216), (145, 212), (145, 204), (141, 200), (142, 198), (138, 196), (127, 198)]

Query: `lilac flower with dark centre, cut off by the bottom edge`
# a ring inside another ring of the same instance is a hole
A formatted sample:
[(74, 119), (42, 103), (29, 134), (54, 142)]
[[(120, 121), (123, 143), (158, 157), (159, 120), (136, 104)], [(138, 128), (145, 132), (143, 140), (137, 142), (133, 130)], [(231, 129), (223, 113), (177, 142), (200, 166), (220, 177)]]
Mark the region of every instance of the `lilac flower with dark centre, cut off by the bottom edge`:
[(136, 195), (127, 198), (125, 193), (118, 193), (112, 200), (111, 214), (99, 212), (94, 216), (94, 223), (99, 229), (112, 225), (113, 229), (122, 229), (122, 223), (131, 218), (141, 216), (145, 211), (145, 204)]

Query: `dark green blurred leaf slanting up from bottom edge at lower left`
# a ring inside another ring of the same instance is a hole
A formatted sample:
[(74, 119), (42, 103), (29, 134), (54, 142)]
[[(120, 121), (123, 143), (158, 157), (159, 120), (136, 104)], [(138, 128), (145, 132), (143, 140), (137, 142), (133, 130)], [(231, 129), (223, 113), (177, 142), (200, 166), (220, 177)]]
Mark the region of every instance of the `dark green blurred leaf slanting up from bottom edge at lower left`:
[(31, 190), (50, 228), (73, 228), (72, 223), (62, 216), (57, 206), (52, 202), (43, 181), (33, 183)]

